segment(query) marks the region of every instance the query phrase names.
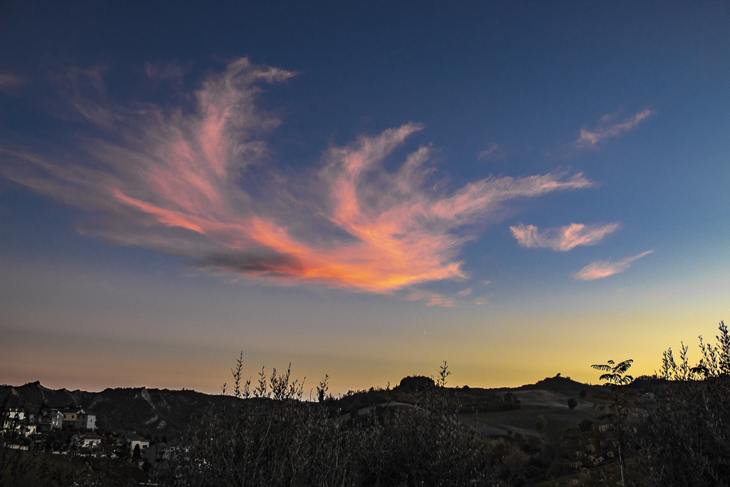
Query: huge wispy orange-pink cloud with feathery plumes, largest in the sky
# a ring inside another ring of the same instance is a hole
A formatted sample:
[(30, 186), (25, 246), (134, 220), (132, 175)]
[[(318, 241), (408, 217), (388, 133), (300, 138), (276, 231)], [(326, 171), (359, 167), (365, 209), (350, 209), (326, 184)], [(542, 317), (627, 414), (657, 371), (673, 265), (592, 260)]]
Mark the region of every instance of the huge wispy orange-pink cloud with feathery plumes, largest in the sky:
[[(99, 91), (99, 71), (87, 71)], [(581, 173), (550, 172), (439, 192), (426, 184), (428, 147), (396, 172), (383, 169), (383, 159), (421, 129), (416, 123), (331, 147), (318, 172), (277, 172), (265, 137), (280, 120), (259, 110), (257, 99), (262, 84), (292, 76), (239, 59), (208, 77), (195, 110), (185, 112), (94, 103), (72, 90), (77, 110), (110, 136), (82, 139), (74, 155), (3, 150), (1, 170), (103, 213), (80, 224), (85, 234), (185, 256), (212, 272), (376, 293), (464, 277), (458, 254), (473, 238), (460, 233), (464, 226), (488, 221), (512, 199), (593, 185)], [(415, 299), (426, 298), (453, 305), (437, 294)]]

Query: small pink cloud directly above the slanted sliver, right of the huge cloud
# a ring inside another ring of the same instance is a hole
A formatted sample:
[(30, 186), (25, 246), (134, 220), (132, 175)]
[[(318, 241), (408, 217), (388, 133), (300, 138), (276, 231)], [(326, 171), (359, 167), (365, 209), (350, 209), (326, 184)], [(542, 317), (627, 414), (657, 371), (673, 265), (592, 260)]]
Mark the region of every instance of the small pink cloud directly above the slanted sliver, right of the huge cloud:
[(510, 230), (518, 244), (523, 247), (551, 248), (566, 252), (578, 245), (596, 245), (603, 237), (616, 231), (620, 226), (621, 223), (618, 222), (606, 225), (571, 223), (538, 231), (537, 226), (520, 223), (510, 226)]

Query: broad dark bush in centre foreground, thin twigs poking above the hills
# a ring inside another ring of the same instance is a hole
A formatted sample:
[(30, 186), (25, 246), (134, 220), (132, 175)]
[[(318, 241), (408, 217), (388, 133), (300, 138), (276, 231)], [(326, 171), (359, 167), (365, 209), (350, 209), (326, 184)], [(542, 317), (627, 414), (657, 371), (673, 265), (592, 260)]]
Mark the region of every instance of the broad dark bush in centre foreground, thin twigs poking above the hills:
[(293, 400), (296, 386), (274, 380), (269, 392), (264, 385), (260, 380), (258, 397), (202, 418), (158, 481), (170, 486), (499, 485), (501, 459), (458, 422), (455, 404), (442, 388), (424, 391), (419, 407), (372, 407), (364, 414), (353, 410), (331, 417), (324, 404)]

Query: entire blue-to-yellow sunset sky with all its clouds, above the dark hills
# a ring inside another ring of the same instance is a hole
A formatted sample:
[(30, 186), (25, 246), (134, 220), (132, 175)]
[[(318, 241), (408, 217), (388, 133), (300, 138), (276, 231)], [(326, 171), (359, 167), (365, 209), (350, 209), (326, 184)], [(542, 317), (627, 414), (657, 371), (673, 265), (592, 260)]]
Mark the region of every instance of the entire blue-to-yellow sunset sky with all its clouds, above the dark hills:
[(5, 1), (0, 45), (0, 383), (597, 383), (730, 319), (727, 2)]

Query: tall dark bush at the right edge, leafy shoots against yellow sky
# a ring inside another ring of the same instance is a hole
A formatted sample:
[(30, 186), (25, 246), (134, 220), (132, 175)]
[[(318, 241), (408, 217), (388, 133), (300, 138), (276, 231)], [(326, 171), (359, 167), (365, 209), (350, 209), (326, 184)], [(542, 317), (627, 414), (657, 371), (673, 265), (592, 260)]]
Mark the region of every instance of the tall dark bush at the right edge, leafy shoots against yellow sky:
[(700, 337), (694, 367), (684, 345), (679, 364), (664, 353), (666, 388), (638, 435), (650, 486), (730, 485), (730, 334), (722, 321), (719, 330), (715, 346)]

